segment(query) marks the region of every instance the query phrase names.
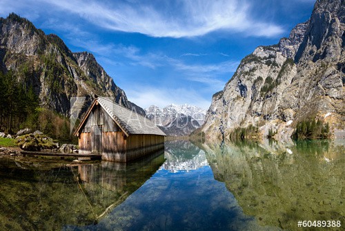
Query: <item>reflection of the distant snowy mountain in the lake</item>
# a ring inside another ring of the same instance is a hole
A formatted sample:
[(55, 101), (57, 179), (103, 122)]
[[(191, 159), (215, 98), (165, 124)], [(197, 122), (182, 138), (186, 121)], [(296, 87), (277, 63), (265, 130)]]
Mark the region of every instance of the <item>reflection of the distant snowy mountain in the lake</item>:
[(189, 172), (208, 165), (204, 150), (188, 140), (168, 141), (165, 147), (166, 162), (161, 169), (170, 172)]

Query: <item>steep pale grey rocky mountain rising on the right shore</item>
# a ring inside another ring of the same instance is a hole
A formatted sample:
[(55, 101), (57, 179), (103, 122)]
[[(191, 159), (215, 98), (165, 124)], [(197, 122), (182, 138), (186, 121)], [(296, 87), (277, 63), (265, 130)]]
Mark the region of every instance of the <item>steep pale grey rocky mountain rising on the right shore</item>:
[(345, 4), (318, 0), (311, 18), (279, 44), (259, 46), (213, 95), (201, 131), (228, 138), (237, 127), (269, 129), (288, 138), (297, 122), (328, 122), (337, 136), (345, 128)]

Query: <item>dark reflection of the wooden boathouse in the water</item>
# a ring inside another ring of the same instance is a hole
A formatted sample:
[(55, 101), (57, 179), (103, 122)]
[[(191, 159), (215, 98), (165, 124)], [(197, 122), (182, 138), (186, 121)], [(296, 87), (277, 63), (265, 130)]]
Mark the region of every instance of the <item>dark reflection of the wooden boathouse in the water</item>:
[(126, 200), (164, 163), (164, 150), (135, 162), (102, 161), (100, 165), (80, 165), (77, 169), (81, 191), (87, 195), (97, 219)]

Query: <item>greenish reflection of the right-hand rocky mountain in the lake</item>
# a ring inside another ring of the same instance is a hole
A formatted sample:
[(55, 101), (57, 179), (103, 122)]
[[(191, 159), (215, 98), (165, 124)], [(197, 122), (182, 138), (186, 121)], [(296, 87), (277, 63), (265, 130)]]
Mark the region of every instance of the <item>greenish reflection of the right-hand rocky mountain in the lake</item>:
[(260, 225), (295, 230), (297, 221), (345, 218), (344, 144), (303, 141), (203, 144), (217, 181)]

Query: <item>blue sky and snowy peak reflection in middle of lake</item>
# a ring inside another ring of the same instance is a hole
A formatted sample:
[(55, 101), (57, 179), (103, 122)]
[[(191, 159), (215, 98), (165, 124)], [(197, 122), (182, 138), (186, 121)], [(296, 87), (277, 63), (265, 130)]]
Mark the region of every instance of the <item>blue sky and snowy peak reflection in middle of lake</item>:
[(203, 149), (184, 140), (165, 147), (166, 162), (124, 203), (97, 225), (66, 230), (279, 230), (244, 214)]

